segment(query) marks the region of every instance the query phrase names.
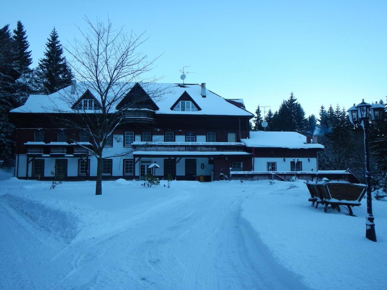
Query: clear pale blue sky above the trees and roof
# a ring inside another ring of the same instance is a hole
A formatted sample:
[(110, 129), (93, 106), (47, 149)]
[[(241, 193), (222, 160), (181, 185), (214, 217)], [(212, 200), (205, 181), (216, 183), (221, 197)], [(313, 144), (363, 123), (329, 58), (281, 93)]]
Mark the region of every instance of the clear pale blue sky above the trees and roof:
[(163, 54), (153, 70), (163, 82), (207, 83), (225, 98), (278, 109), (294, 92), (305, 112), (324, 104), (350, 107), (387, 96), (387, 1), (7, 1), (0, 25), (24, 24), (33, 67), (55, 26), (66, 44), (75, 25), (108, 17), (149, 40), (142, 51)]

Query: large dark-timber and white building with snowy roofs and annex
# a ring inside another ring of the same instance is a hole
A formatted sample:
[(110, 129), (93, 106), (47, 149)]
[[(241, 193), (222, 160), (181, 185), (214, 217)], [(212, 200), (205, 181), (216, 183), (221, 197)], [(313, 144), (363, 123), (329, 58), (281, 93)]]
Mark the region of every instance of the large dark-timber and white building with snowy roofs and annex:
[[(114, 106), (119, 108), (139, 95), (142, 101), (132, 108), (132, 122), (117, 126), (106, 143), (103, 179), (143, 179), (153, 163), (159, 166), (157, 176), (171, 175), (178, 180), (217, 180), (230, 169), (317, 170), (317, 152), (323, 147), (308, 143), (303, 135), (251, 132), (250, 138), (253, 114), (241, 99), (224, 99), (205, 84), (157, 84), (164, 93), (152, 99), (148, 86), (128, 85), (128, 94)], [(23, 106), (11, 111), (16, 117), (16, 177), (96, 178), (96, 157), (87, 149), (94, 146), (91, 136), (77, 126), (53, 121), (63, 113), (74, 121), (80, 108), (87, 114), (99, 114), (101, 104), (95, 94), (73, 84), (50, 95), (31, 95)], [(72, 99), (64, 101), (63, 96)], [(262, 143), (265, 138), (272, 142)], [(289, 148), (291, 138), (297, 142)]]

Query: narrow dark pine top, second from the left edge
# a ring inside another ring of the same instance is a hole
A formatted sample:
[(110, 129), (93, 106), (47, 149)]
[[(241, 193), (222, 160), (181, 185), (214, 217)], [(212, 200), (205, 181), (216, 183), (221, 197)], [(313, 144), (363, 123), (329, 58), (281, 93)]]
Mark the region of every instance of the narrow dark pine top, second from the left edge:
[(13, 39), (15, 67), (20, 74), (29, 73), (29, 66), (32, 63), (31, 50), (28, 50), (29, 43), (27, 41), (26, 31), (20, 20), (17, 22), (16, 29), (14, 29)]

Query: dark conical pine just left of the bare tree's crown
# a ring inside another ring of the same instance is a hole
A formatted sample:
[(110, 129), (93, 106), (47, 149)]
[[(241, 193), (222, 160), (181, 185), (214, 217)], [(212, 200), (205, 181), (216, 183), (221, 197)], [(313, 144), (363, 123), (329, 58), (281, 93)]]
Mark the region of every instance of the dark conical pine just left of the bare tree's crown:
[(45, 57), (39, 61), (39, 68), (43, 73), (43, 84), (51, 94), (70, 85), (72, 73), (63, 56), (63, 48), (55, 27), (47, 40)]

